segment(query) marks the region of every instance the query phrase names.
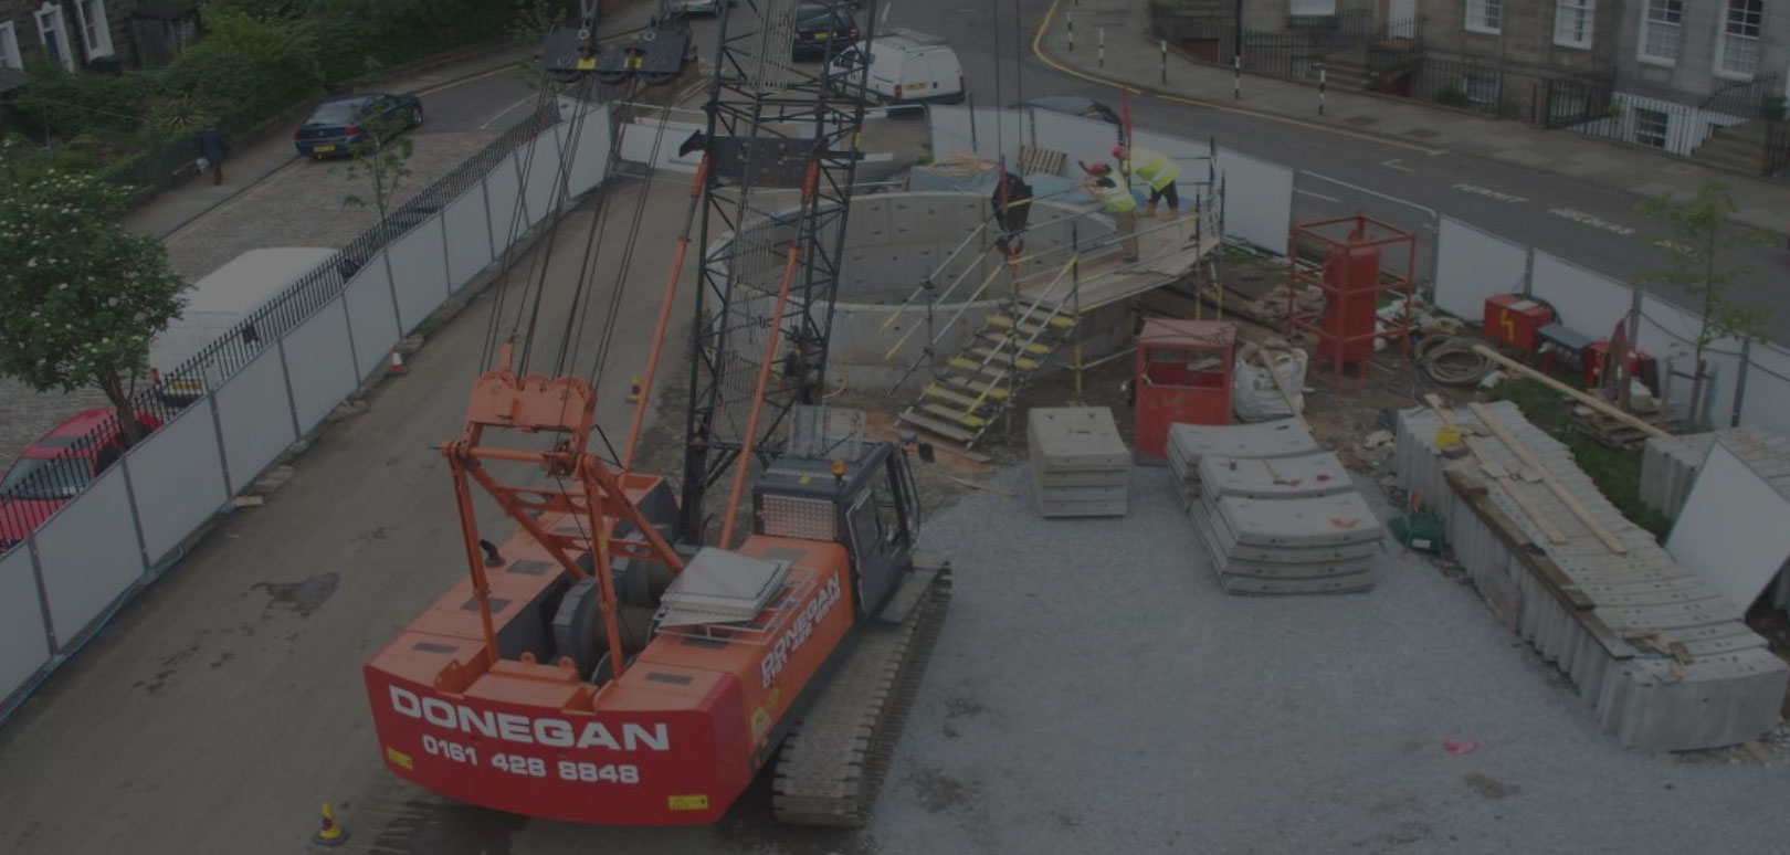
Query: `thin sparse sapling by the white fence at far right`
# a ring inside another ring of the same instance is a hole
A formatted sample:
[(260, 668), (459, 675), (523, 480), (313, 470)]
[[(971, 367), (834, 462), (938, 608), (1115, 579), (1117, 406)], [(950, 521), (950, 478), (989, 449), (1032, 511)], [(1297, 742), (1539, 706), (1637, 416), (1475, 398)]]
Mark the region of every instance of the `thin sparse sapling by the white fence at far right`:
[(1720, 181), (1702, 182), (1692, 199), (1649, 199), (1640, 204), (1640, 209), (1666, 227), (1666, 236), (1654, 241), (1666, 250), (1666, 265), (1641, 274), (1640, 281), (1670, 284), (1684, 292), (1702, 313), (1702, 324), (1693, 342), (1697, 372), (1690, 386), (1695, 408), (1702, 401), (1708, 368), (1704, 354), (1709, 343), (1720, 338), (1761, 338), (1765, 320), (1770, 315), (1765, 306), (1729, 299), (1729, 284), (1752, 272), (1752, 267), (1722, 267), (1722, 254), (1738, 247), (1776, 243), (1777, 238), (1760, 229), (1733, 225), (1729, 216), (1735, 213), (1735, 199), (1727, 193), (1727, 184)]

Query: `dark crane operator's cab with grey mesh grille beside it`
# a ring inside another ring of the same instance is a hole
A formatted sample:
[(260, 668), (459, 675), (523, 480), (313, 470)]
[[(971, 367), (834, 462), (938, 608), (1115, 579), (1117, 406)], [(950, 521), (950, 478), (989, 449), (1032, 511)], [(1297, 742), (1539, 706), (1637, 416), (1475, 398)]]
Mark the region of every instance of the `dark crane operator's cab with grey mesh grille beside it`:
[(888, 442), (777, 458), (752, 490), (752, 531), (829, 540), (850, 556), (854, 612), (874, 615), (900, 585), (920, 537), (908, 456)]

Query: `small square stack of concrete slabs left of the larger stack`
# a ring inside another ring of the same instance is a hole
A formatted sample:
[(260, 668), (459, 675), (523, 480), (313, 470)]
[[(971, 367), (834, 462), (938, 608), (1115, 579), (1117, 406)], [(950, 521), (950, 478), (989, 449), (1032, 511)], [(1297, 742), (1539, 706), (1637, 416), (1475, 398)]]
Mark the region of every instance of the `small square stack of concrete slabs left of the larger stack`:
[(1033, 408), (1031, 487), (1045, 517), (1124, 517), (1131, 453), (1103, 406)]

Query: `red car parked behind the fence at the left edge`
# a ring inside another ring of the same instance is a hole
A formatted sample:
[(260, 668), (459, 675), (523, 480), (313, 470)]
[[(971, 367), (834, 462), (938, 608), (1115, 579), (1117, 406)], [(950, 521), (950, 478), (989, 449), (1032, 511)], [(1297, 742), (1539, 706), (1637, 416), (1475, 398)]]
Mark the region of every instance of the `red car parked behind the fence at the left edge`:
[[(147, 435), (161, 419), (136, 413), (136, 424)], [(0, 479), (0, 553), (81, 495), (127, 447), (111, 408), (82, 410), (32, 442)]]

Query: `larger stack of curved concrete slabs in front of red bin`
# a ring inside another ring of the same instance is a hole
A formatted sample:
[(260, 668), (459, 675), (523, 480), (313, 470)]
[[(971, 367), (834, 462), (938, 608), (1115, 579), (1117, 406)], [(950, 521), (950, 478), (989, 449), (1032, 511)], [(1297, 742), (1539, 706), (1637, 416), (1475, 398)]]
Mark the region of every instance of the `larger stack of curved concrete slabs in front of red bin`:
[(1342, 463), (1298, 419), (1176, 424), (1169, 461), (1194, 529), (1230, 594), (1373, 587), (1380, 521)]

